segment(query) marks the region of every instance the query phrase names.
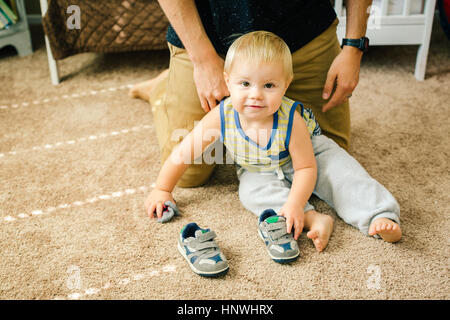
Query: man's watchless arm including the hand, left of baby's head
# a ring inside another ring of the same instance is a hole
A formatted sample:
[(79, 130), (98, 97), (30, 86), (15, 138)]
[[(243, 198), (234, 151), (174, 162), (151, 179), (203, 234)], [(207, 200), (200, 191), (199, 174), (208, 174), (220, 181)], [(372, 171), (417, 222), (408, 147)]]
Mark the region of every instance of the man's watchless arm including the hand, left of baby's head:
[(203, 110), (210, 111), (228, 96), (224, 61), (208, 38), (194, 0), (159, 0), (194, 65), (194, 81)]

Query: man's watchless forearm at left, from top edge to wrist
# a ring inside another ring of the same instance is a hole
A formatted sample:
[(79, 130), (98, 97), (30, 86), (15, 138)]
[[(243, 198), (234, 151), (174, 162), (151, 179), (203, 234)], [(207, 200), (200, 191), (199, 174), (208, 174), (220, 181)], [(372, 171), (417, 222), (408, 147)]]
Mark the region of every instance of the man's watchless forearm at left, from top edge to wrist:
[(193, 63), (217, 54), (209, 40), (194, 0), (158, 0)]

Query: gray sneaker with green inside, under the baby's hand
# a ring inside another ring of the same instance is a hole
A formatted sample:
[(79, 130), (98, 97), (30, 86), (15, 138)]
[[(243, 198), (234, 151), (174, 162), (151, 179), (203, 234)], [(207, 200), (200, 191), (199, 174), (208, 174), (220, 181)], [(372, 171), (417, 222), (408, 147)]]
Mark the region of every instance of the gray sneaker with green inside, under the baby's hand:
[(259, 216), (258, 234), (267, 247), (273, 261), (288, 263), (300, 255), (297, 241), (292, 233), (286, 232), (286, 219), (272, 209), (266, 209)]

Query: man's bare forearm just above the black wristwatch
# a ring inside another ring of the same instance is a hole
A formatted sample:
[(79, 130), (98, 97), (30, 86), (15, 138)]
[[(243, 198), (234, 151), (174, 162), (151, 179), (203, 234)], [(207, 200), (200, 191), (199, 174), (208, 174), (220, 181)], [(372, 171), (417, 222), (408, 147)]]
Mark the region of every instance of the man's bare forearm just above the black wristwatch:
[(365, 36), (369, 18), (367, 8), (371, 4), (372, 0), (347, 0), (346, 38), (359, 39)]

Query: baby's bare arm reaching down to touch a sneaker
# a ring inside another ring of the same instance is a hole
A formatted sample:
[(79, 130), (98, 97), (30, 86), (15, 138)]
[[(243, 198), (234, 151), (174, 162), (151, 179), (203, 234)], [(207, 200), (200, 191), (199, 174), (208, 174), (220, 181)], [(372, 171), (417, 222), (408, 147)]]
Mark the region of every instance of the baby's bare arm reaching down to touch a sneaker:
[(281, 208), (280, 215), (286, 217), (288, 233), (294, 226), (294, 239), (297, 240), (303, 230), (303, 208), (314, 191), (317, 178), (317, 165), (311, 138), (305, 121), (297, 111), (294, 112), (288, 147), (295, 172), (288, 200)]

